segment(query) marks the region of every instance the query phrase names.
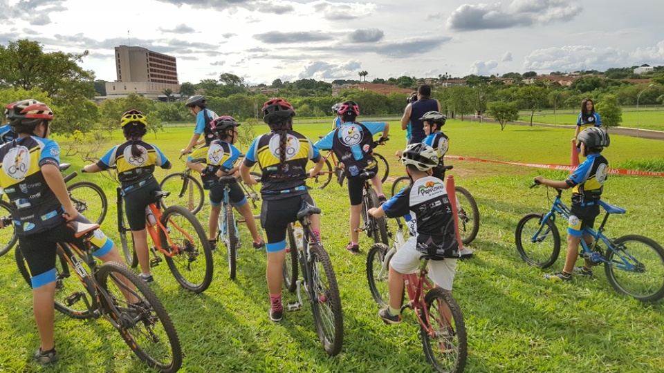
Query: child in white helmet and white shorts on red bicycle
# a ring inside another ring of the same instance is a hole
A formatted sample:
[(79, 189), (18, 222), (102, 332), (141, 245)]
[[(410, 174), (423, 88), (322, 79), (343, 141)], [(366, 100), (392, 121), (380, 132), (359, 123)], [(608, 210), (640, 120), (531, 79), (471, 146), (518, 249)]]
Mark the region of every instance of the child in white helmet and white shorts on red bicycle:
[(444, 258), (429, 261), (429, 278), (436, 287), (452, 291), (459, 245), (452, 204), (443, 180), (432, 176), (438, 162), (438, 153), (431, 146), (410, 144), (403, 151), (401, 163), (406, 166), (406, 173), (413, 179), (413, 184), (382, 206), (369, 209), (369, 213), (376, 218), (406, 216), (409, 220), (410, 237), (389, 261), (389, 306), (378, 312), (378, 317), (387, 324), (401, 323), (403, 274), (414, 273), (422, 256)]

